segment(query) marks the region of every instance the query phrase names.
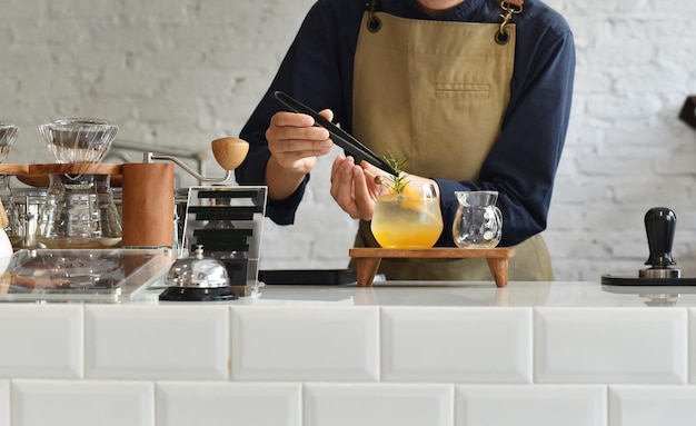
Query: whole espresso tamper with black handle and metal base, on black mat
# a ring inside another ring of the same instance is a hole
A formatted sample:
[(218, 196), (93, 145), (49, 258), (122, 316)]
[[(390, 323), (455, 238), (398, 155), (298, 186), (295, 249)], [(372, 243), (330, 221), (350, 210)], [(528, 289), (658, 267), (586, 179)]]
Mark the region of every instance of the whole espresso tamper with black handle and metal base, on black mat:
[(645, 214), (645, 232), (650, 256), (645, 261), (649, 268), (640, 269), (640, 278), (679, 278), (682, 271), (673, 268), (672, 242), (677, 226), (677, 215), (666, 207), (654, 207)]

